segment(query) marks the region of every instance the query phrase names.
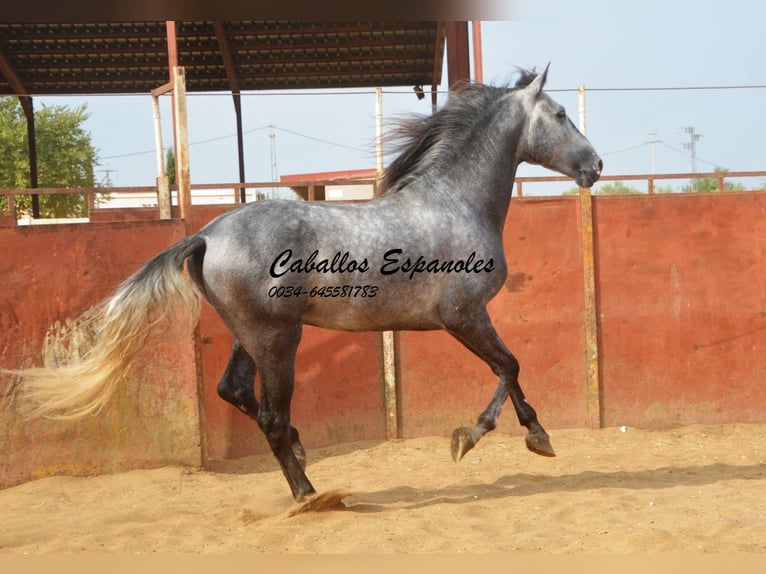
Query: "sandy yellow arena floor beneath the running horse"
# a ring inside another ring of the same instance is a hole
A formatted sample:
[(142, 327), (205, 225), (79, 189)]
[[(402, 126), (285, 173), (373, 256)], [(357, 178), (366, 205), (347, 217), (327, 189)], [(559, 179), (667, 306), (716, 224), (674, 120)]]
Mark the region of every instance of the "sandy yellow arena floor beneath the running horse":
[(310, 449), (335, 508), (291, 515), (269, 456), (0, 491), (0, 552), (766, 552), (766, 424), (490, 434)]

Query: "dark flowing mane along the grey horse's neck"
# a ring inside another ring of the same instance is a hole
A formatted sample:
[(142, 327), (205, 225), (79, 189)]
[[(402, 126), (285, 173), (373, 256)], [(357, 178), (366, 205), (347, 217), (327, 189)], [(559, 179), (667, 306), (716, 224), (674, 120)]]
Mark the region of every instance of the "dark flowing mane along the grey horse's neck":
[(519, 70), (513, 88), (466, 83), (450, 94), (447, 103), (431, 115), (416, 115), (397, 123), (388, 137), (397, 143), (398, 157), (386, 168), (378, 195), (397, 191), (415, 179), (425, 164), (449, 154), (490, 106), (509, 91), (528, 86), (537, 73)]

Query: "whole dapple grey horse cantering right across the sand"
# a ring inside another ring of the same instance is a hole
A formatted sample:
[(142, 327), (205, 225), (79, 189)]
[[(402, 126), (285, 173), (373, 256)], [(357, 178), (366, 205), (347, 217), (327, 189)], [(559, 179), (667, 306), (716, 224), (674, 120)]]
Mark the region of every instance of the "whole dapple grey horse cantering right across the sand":
[(20, 373), (37, 412), (97, 412), (158, 329), (193, 328), (201, 295), (233, 334), (218, 393), (258, 423), (298, 501), (315, 493), (290, 419), (304, 324), (447, 331), (499, 378), (475, 426), (455, 430), (453, 458), (495, 428), (508, 397), (527, 447), (554, 456), (519, 386), (519, 363), (487, 313), (506, 279), (503, 226), (517, 166), (540, 164), (581, 187), (601, 174), (591, 144), (543, 92), (547, 72), (522, 72), (510, 88), (468, 84), (439, 111), (403, 124), (384, 191), (368, 202), (254, 202), (156, 255), (86, 312), (94, 344), (81, 361)]

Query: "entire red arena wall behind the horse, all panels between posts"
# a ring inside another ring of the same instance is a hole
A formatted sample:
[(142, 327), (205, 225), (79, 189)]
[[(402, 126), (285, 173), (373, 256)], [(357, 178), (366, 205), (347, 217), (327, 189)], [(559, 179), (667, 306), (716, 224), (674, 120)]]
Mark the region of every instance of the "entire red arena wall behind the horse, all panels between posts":
[[(766, 193), (595, 197), (602, 421), (606, 426), (766, 421)], [(223, 207), (195, 207), (195, 227)], [(107, 296), (183, 236), (183, 222), (0, 227), (0, 368), (39, 364), (48, 326)], [(514, 200), (509, 276), (490, 315), (549, 429), (588, 424), (577, 197)], [(265, 452), (216, 386), (231, 339), (203, 306), (190, 341), (159, 347), (99, 417), (27, 421), (0, 411), (0, 486)], [(473, 423), (497, 381), (444, 333), (399, 333), (403, 437)], [(384, 440), (380, 337), (306, 327), (293, 423), (304, 444)], [(196, 358), (199, 361), (196, 361)], [(198, 376), (201, 409), (198, 400)], [(12, 395), (12, 380), (0, 378)], [(200, 415), (201, 413), (201, 415)], [(510, 403), (499, 430), (519, 433)]]

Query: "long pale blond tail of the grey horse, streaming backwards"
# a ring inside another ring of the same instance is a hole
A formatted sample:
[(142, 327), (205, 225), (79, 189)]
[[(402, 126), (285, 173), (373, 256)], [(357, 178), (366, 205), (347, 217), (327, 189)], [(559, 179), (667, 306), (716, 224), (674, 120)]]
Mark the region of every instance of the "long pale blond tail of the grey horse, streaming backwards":
[(85, 311), (76, 331), (86, 330), (92, 346), (82, 358), (16, 371), (22, 395), (34, 405), (32, 414), (77, 418), (98, 413), (139, 352), (162, 338), (191, 332), (199, 318), (199, 297), (183, 266), (186, 258), (204, 251), (199, 236), (179, 241)]

